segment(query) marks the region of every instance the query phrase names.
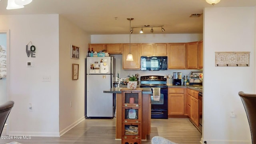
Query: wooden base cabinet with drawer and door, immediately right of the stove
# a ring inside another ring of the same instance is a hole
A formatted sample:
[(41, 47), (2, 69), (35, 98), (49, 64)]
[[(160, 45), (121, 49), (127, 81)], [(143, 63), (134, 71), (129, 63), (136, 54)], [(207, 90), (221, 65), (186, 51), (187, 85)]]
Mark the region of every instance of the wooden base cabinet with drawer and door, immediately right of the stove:
[(184, 115), (184, 88), (168, 88), (168, 115)]

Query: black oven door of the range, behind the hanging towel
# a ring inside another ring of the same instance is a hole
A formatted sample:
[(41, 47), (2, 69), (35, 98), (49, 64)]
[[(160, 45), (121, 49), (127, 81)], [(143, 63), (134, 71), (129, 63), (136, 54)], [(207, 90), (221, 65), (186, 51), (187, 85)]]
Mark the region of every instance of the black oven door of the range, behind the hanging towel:
[(160, 88), (160, 100), (151, 94), (151, 118), (168, 118), (168, 88)]

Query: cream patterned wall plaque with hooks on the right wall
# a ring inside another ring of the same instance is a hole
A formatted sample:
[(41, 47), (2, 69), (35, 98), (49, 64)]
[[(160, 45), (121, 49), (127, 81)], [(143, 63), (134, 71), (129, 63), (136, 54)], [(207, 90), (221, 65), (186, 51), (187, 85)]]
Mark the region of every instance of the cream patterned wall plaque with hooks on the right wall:
[(250, 52), (215, 52), (215, 66), (250, 66)]

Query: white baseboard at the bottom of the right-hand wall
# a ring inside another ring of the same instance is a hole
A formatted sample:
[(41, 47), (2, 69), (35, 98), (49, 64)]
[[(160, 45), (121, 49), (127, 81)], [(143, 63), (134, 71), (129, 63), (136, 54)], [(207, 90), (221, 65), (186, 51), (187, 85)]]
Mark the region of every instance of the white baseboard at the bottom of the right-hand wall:
[(204, 141), (206, 141), (206, 144), (252, 144), (251, 141), (239, 141), (239, 140), (203, 140), (201, 138), (200, 143), (204, 144)]

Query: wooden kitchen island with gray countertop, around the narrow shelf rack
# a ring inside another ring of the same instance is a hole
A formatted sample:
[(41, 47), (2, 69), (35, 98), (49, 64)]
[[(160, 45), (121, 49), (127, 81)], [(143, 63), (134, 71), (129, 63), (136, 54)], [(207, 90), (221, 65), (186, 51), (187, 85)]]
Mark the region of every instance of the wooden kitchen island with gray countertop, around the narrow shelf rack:
[[(141, 140), (146, 140), (146, 136), (150, 135), (150, 126), (151, 126), (151, 101), (150, 101), (150, 94), (152, 94), (151, 88), (136, 88), (136, 89), (128, 89), (128, 88), (111, 88), (110, 90), (104, 90), (104, 93), (115, 93), (116, 94), (116, 140), (121, 140), (126, 137), (123, 133), (124, 125), (126, 122), (125, 119), (125, 106), (127, 107), (134, 107), (136, 109), (136, 104), (130, 104), (129, 102), (125, 102), (125, 96), (122, 95), (123, 93), (130, 92), (130, 93), (141, 93), (140, 94), (140, 105), (138, 106), (138, 122), (140, 125), (140, 134)], [(136, 100), (135, 100), (136, 103)], [(137, 109), (138, 109), (137, 108)], [(127, 120), (129, 121), (129, 120)], [(132, 121), (132, 120), (131, 120)], [(136, 123), (136, 120), (134, 120)], [(137, 136), (138, 137), (138, 136)]]

